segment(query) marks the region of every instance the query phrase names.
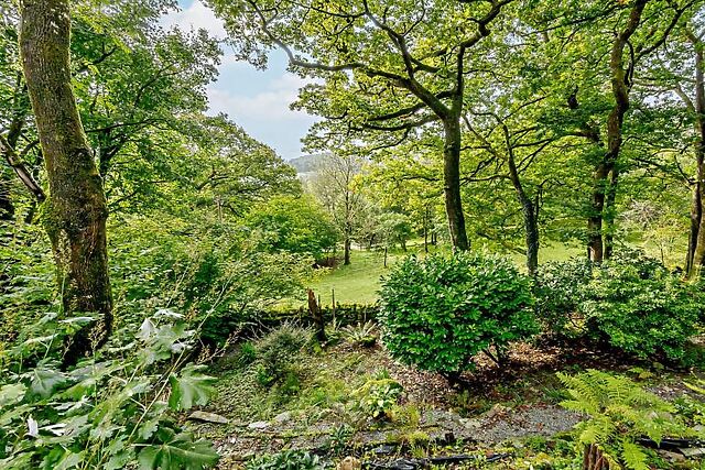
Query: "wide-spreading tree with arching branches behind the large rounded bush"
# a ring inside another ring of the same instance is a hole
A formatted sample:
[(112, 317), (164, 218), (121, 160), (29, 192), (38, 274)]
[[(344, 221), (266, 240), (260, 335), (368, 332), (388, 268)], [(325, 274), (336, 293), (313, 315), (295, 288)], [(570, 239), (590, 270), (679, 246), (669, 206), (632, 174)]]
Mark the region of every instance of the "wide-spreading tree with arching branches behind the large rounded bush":
[[(459, 166), (466, 76), (473, 73), (469, 52), (512, 1), (209, 4), (225, 19), (243, 55), (252, 56), (261, 44), (278, 46), (296, 70), (325, 78), (325, 85), (304, 91), (301, 106), (329, 118), (338, 133), (351, 131), (352, 139), (360, 132), (391, 133), (393, 145), (438, 122), (448, 229), (453, 247), (466, 250)], [(242, 37), (240, 31), (253, 34)], [(264, 61), (262, 54), (253, 58)]]

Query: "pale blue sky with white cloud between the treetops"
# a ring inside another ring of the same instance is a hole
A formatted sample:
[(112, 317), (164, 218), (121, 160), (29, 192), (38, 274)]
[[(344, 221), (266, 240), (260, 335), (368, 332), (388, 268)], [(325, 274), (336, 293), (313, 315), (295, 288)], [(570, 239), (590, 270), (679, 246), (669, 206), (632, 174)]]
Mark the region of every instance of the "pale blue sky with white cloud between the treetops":
[[(183, 30), (205, 29), (212, 35), (226, 36), (223, 22), (198, 0), (180, 0), (181, 11), (162, 19), (165, 26)], [(235, 59), (224, 45), (225, 56), (218, 80), (208, 86), (209, 113), (225, 112), (254, 139), (273, 147), (285, 160), (302, 155), (301, 139), (316, 118), (289, 106), (296, 99), (304, 80), (286, 72), (286, 56), (272, 52), (268, 69)]]

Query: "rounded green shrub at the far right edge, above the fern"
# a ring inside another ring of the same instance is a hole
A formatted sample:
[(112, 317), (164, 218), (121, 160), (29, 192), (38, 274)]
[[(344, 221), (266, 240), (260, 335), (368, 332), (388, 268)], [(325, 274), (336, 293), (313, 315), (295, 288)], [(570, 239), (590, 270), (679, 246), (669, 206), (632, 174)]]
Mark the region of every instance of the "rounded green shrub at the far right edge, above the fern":
[(604, 262), (583, 296), (589, 332), (640, 358), (685, 359), (702, 314), (695, 285), (643, 256)]

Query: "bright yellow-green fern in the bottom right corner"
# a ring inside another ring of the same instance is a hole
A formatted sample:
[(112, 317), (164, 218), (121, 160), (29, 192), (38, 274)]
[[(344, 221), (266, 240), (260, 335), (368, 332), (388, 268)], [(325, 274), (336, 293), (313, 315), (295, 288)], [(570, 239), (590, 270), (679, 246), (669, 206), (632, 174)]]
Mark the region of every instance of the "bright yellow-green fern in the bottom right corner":
[(556, 375), (571, 395), (561, 406), (589, 416), (575, 427), (581, 453), (586, 446), (596, 446), (610, 469), (649, 470), (640, 438), (660, 444), (665, 436), (692, 435), (671, 403), (628, 378), (596, 370)]

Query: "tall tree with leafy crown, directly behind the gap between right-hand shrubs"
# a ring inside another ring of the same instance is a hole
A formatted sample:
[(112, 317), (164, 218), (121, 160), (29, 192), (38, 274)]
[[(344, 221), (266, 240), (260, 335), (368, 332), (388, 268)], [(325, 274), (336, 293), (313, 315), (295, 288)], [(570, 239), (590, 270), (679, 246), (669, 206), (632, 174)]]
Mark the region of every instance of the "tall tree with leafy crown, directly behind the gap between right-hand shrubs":
[[(607, 81), (610, 90), (608, 97), (605, 97), (608, 99), (609, 108), (606, 109), (606, 113), (599, 111), (593, 113), (592, 117), (597, 117), (596, 120), (585, 119), (586, 114), (581, 110), (583, 107), (578, 100), (581, 83), (576, 85), (567, 100), (575, 116), (582, 114), (582, 118), (578, 118), (578, 129), (574, 134), (583, 135), (594, 142), (599, 147), (598, 152), (601, 153), (593, 161), (593, 189), (587, 222), (587, 248), (590, 259), (595, 262), (609, 258), (614, 249), (618, 183), (626, 165), (621, 159), (625, 121), (628, 118), (628, 111), (632, 109), (631, 92), (634, 81), (642, 72), (644, 62), (666, 43), (683, 14), (694, 9), (697, 3), (697, 1), (677, 3), (634, 0), (607, 6), (607, 8), (598, 7), (601, 11), (597, 10), (596, 18), (603, 19), (599, 22), (579, 21), (579, 18), (585, 18), (582, 11), (572, 13), (572, 18), (576, 19), (567, 22), (568, 29), (576, 33), (574, 44), (578, 46), (577, 57), (581, 62), (585, 62), (584, 66), (595, 70), (595, 74), (585, 75), (588, 77), (587, 83), (595, 87), (600, 81)], [(595, 30), (603, 22), (611, 22), (615, 31), (604, 40), (596, 34)], [(582, 26), (575, 29), (574, 24)], [(550, 30), (556, 28), (561, 26), (550, 28)], [(557, 41), (563, 42), (560, 34)], [(584, 57), (586, 47), (593, 54), (599, 53), (607, 57), (607, 63), (599, 58), (599, 55), (597, 59)], [(605, 138), (601, 136), (603, 132)]]

